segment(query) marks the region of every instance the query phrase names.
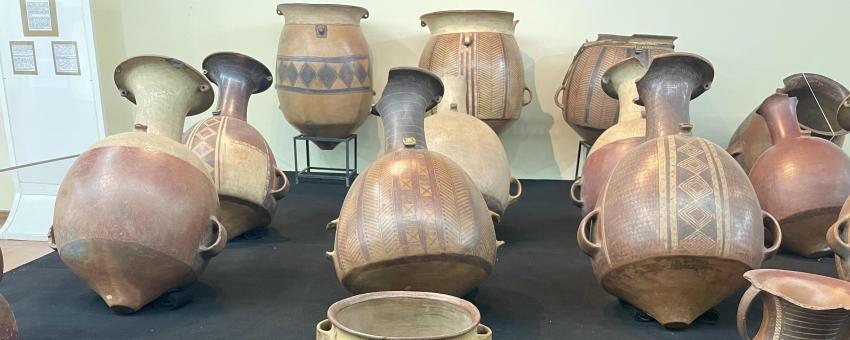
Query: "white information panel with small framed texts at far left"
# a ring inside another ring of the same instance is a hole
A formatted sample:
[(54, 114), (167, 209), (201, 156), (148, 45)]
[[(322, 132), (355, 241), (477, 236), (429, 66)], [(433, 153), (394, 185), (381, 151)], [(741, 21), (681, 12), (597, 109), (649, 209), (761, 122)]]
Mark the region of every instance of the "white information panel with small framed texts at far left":
[[(55, 0), (56, 36), (25, 35), (21, 3), (0, 1), (0, 112), (12, 166), (79, 154), (104, 137), (89, 0)], [(15, 200), (0, 238), (47, 239), (56, 191), (74, 160), (14, 171)]]

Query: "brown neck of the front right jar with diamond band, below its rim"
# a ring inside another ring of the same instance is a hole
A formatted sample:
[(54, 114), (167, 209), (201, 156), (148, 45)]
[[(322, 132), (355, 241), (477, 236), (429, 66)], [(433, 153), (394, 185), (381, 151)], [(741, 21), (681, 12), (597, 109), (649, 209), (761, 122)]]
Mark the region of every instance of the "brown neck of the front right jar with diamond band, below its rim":
[(639, 83), (637, 90), (646, 108), (647, 138), (690, 132), (690, 101), (694, 82), (669, 75)]

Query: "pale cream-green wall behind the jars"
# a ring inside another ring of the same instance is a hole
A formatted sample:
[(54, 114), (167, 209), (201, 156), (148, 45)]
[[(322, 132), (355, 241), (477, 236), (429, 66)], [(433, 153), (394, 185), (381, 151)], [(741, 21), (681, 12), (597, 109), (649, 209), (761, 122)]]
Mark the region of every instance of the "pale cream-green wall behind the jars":
[[(131, 105), (120, 98), (112, 70), (136, 54), (163, 54), (200, 66), (216, 51), (238, 51), (274, 68), (283, 18), (277, 0), (92, 0), (107, 132), (130, 129)], [(446, 9), (500, 9), (516, 13), (526, 82), (535, 95), (522, 119), (502, 135), (520, 178), (572, 178), (578, 143), (552, 101), (573, 55), (597, 33), (677, 35), (681, 51), (714, 63), (717, 76), (691, 110), (695, 133), (725, 146), (738, 123), (795, 72), (822, 73), (850, 85), (846, 13), (850, 2), (428, 0), (348, 1), (369, 9), (363, 30), (372, 49), (376, 92), (393, 66), (416, 65), (428, 31), (419, 15)], [(291, 170), (297, 132), (277, 109), (274, 91), (251, 99), (249, 121)], [(209, 113), (206, 113), (207, 115)], [(197, 118), (191, 119), (195, 121)], [(361, 169), (380, 153), (375, 117), (358, 131)], [(846, 149), (846, 148), (845, 148)], [(5, 148), (0, 148), (0, 166)], [(342, 165), (342, 150), (314, 153)], [(320, 162), (321, 163), (321, 162)], [(303, 164), (303, 163), (301, 163)], [(0, 192), (8, 193), (0, 178)], [(0, 195), (0, 209), (3, 197)]]

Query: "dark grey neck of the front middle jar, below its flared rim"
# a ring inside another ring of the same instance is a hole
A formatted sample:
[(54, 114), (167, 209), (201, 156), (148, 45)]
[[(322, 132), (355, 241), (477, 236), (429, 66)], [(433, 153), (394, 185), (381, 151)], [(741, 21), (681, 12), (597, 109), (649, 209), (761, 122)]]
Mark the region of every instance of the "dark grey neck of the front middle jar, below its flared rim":
[(410, 92), (385, 95), (377, 109), (384, 122), (384, 151), (427, 149), (425, 109), (428, 100)]

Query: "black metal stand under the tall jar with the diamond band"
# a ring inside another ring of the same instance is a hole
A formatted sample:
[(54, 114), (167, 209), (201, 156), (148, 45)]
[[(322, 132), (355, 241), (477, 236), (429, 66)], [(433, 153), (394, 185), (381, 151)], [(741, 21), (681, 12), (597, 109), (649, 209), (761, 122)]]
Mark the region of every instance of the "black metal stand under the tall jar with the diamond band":
[[(303, 170), (298, 168), (298, 141), (304, 141), (304, 148), (307, 150), (307, 167)], [(310, 141), (314, 142), (333, 142), (345, 144), (345, 168), (326, 168), (310, 165)], [(354, 167), (351, 167), (351, 148), (350, 142), (354, 141)], [(308, 137), (298, 135), (292, 137), (292, 148), (294, 149), (293, 157), (295, 157), (295, 184), (298, 184), (301, 179), (319, 179), (319, 180), (338, 180), (345, 181), (345, 186), (351, 186), (351, 180), (357, 176), (357, 134), (349, 135), (345, 138), (332, 137)], [(318, 171), (316, 171), (318, 170)]]

